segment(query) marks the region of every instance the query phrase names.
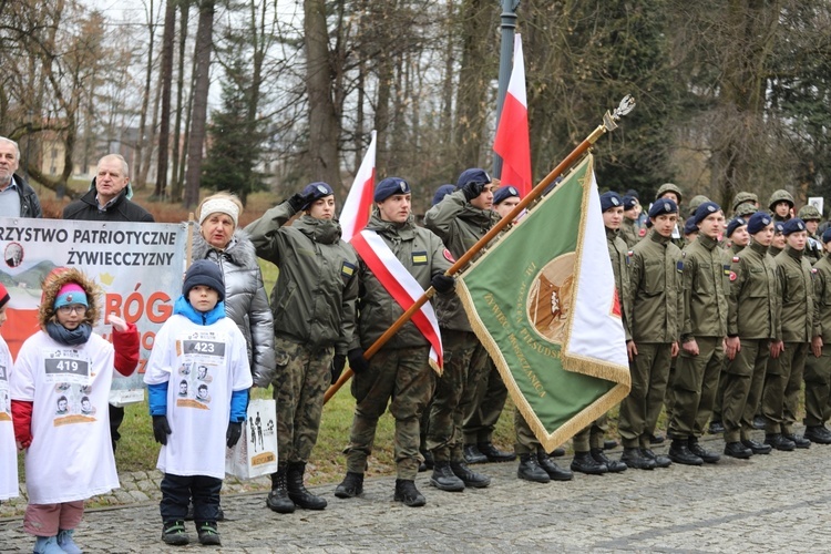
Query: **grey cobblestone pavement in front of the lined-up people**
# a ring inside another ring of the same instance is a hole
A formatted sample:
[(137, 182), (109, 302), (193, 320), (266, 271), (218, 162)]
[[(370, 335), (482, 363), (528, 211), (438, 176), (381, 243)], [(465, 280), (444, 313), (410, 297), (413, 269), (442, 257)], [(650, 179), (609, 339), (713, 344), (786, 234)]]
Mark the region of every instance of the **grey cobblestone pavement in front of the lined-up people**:
[[(759, 437), (761, 438), (761, 437)], [(709, 438), (709, 449), (724, 442)], [(666, 452), (667, 448), (656, 449)], [(620, 449), (611, 452), (618, 456)], [(828, 552), (831, 544), (831, 447), (724, 458), (700, 468), (674, 464), (566, 483), (516, 479), (516, 462), (474, 466), (488, 489), (440, 492), (420, 473), (428, 499), (411, 509), (392, 501), (393, 478), (369, 479), (365, 497), (340, 500), (336, 484), (311, 488), (329, 506), (279, 515), (265, 506), (267, 480), (226, 483), (218, 552)], [(558, 459), (560, 464), (571, 462)], [(157, 497), (157, 474), (122, 475), (123, 499)], [(125, 495), (126, 494), (126, 495)], [(0, 520), (0, 551), (31, 552), (20, 516)], [(188, 524), (189, 525), (189, 524)], [(89, 510), (76, 532), (86, 552), (198, 550), (161, 542), (157, 501)]]

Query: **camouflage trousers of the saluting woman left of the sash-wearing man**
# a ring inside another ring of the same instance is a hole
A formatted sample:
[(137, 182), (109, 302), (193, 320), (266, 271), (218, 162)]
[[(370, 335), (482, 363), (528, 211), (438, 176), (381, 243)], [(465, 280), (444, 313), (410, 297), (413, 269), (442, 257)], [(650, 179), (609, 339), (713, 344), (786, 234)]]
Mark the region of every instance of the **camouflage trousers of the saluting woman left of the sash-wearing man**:
[(273, 381), (277, 401), (279, 465), (306, 462), (317, 443), (324, 396), (331, 381), (335, 347), (312, 352), (304, 345), (274, 339), (277, 371)]

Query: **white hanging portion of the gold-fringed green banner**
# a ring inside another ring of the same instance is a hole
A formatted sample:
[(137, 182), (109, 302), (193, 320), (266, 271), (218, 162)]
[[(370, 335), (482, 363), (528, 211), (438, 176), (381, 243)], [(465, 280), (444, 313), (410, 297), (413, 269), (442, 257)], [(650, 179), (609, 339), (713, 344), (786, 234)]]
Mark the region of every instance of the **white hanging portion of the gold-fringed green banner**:
[(628, 372), (626, 335), (619, 305), (615, 301), (615, 275), (594, 172), (589, 187), (586, 224), (577, 237), (579, 280), (574, 295), (572, 327), (563, 346), (563, 363), (567, 365), (566, 358), (602, 360)]

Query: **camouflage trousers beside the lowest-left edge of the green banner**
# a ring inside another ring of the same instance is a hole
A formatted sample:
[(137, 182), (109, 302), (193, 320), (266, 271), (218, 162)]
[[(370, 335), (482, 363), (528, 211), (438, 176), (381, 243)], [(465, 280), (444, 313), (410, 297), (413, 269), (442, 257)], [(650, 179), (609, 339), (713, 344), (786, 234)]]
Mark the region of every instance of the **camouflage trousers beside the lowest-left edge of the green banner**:
[(435, 383), (427, 448), (437, 462), (463, 462), (462, 421), (488, 377), (488, 351), (470, 331), (442, 329), (444, 373)]

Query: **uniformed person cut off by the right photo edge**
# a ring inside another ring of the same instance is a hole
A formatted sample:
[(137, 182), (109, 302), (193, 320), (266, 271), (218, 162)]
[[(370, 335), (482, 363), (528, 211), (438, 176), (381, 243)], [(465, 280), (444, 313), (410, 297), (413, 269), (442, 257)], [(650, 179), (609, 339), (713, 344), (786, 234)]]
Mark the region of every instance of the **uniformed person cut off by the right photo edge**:
[(813, 325), (811, 352), (806, 360), (806, 439), (831, 444), (825, 421), (831, 417), (831, 229), (822, 234), (825, 254), (813, 265), (813, 301), (818, 314)]

